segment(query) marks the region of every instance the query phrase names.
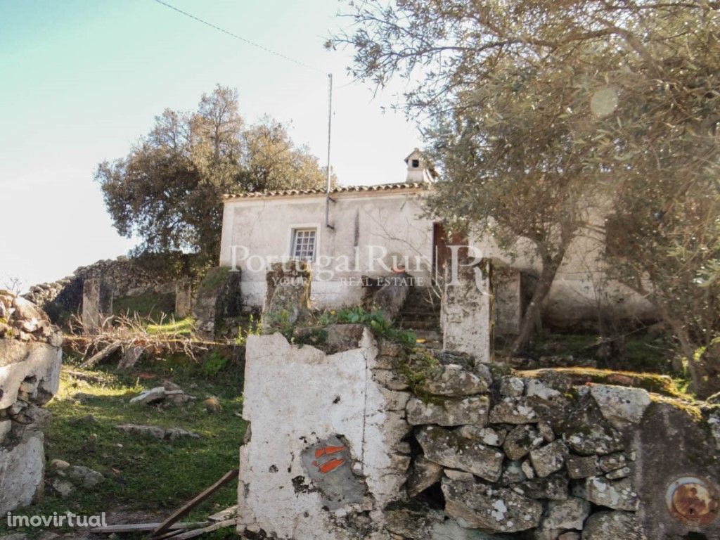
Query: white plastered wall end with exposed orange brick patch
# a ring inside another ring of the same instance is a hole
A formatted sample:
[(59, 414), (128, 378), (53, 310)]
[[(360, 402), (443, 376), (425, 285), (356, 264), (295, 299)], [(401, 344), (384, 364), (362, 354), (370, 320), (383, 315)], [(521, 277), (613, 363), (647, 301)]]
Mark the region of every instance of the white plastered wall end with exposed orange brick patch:
[[(348, 341), (355, 325), (344, 326)], [(410, 430), (408, 397), (375, 381), (377, 344), (359, 328), (354, 348), (336, 354), (291, 346), (280, 333), (248, 337), (241, 534), (374, 538), (352, 536), (358, 529), (350, 521), (402, 497), (410, 458), (398, 448)]]

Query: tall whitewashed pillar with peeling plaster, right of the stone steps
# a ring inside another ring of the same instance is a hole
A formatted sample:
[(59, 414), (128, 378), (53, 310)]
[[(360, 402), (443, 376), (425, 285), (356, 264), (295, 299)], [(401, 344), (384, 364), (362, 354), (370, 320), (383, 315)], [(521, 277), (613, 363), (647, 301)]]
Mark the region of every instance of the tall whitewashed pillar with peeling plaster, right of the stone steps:
[(460, 266), (445, 285), (440, 325), (443, 348), (490, 362), (492, 353), (492, 264)]

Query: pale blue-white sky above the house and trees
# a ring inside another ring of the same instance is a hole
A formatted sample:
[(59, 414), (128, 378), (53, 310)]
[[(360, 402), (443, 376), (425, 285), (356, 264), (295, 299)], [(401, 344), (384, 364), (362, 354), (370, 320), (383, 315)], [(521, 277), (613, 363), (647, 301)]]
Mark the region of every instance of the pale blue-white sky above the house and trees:
[(50, 282), (125, 255), (97, 164), (127, 155), (163, 109), (192, 110), (216, 84), (238, 90), (248, 122), (270, 114), (325, 163), (333, 73), (331, 163), (340, 184), (405, 179), (415, 126), (346, 73), (352, 50), (328, 51), (347, 28), (338, 0), (167, 0), (300, 62), (266, 53), (155, 0), (0, 0), (0, 288)]

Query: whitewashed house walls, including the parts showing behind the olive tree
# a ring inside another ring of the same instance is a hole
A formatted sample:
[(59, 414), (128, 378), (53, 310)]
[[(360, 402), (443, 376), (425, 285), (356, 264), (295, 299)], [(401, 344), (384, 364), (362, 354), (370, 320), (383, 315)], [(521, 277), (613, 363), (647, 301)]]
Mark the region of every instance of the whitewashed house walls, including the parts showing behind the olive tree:
[[(423, 189), (406, 189), (333, 194), (336, 202), (330, 204), (330, 224), (334, 229), (325, 227), (323, 194), (230, 199), (225, 202), (220, 264), (232, 265), (233, 246), (246, 246), (252, 255), (260, 257), (289, 256), (292, 228), (316, 227), (318, 257), (346, 256), (354, 261), (355, 250), (359, 248), (361, 267), (359, 271), (343, 273), (345, 282), (338, 276), (320, 279), (315, 268), (313, 305), (356, 305), (361, 298), (361, 288), (348, 284), (347, 279), (387, 274), (378, 267), (369, 269), (368, 246), (384, 246), (388, 258), (393, 254), (418, 255), (432, 260), (433, 222), (422, 216), (422, 199), (427, 193)], [(599, 214), (594, 219), (602, 224)], [(480, 248), (484, 257), (500, 258), (521, 270), (539, 270), (527, 241), (518, 242), (513, 256), (500, 250), (487, 236), (476, 235), (470, 243)], [(597, 318), (598, 306), (602, 305), (625, 317), (652, 317), (654, 309), (647, 300), (621, 284), (607, 281), (601, 261), (603, 250), (603, 235), (596, 230), (589, 230), (572, 242), (546, 299), (546, 316), (558, 323), (593, 319)], [(265, 293), (264, 271), (253, 271), (246, 261), (240, 261), (238, 266), (243, 271), (244, 305), (260, 307)], [(417, 271), (410, 274), (430, 275)]]

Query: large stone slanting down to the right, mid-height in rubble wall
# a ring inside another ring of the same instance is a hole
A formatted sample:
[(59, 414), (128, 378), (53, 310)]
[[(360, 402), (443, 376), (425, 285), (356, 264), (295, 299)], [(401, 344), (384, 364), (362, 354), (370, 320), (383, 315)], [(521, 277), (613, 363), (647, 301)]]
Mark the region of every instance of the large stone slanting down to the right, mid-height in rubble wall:
[(496, 482), (503, 472), (503, 453), (491, 446), (437, 426), (416, 433), (425, 456), (433, 462)]

